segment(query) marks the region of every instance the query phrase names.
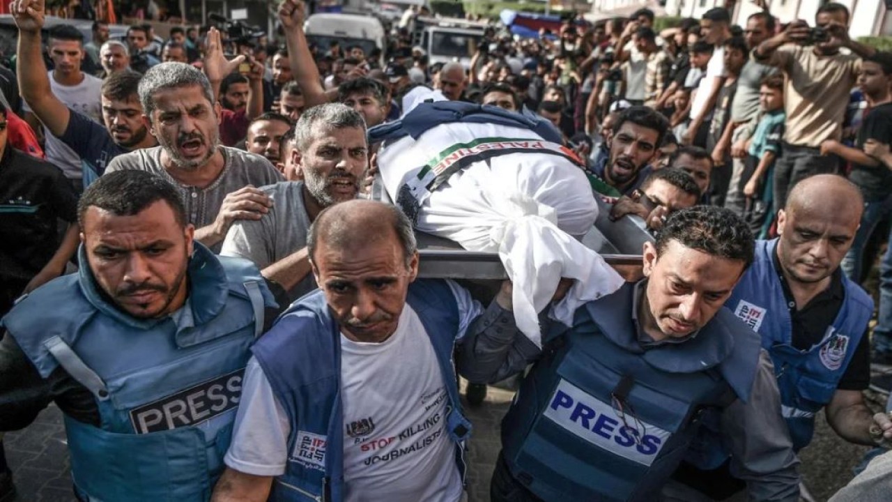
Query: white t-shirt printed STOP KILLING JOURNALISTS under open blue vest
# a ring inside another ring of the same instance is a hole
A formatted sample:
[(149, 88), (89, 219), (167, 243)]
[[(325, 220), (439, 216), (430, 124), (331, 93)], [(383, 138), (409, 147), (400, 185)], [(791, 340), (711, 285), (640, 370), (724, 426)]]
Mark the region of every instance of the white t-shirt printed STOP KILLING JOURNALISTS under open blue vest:
[[(449, 281), (460, 315), (457, 339), (483, 308)], [(409, 305), (380, 344), (341, 336), (343, 469), (347, 502), (458, 501), (461, 477), (445, 429), (446, 385), (424, 325)], [(245, 370), (226, 464), (242, 473), (285, 472), (291, 432), (260, 364)]]

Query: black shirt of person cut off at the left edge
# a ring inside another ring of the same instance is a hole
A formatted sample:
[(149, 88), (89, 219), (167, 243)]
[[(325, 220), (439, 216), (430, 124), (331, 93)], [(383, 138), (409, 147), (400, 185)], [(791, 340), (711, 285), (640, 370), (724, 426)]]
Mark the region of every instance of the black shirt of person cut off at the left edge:
[(0, 158), (0, 314), (55, 254), (60, 219), (78, 219), (71, 182), (53, 164), (6, 146)]

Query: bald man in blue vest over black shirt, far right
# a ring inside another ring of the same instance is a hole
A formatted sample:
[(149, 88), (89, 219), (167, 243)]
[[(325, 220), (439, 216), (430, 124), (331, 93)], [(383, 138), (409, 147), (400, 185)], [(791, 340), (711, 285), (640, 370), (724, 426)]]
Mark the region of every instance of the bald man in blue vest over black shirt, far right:
[[(870, 383), (867, 323), (873, 300), (839, 270), (861, 222), (863, 199), (850, 181), (832, 174), (800, 181), (778, 214), (779, 238), (756, 241), (756, 261), (725, 302), (762, 336), (778, 377), (782, 414), (793, 448), (812, 440), (821, 409), (830, 427), (847, 441), (876, 445), (892, 438), (885, 414), (864, 405)], [(884, 434), (871, 434), (877, 424)], [(692, 475), (714, 498), (732, 487), (727, 456), (713, 443), (698, 467), (717, 473)], [(704, 459), (711, 459), (708, 462)], [(742, 488), (742, 483), (738, 485)]]

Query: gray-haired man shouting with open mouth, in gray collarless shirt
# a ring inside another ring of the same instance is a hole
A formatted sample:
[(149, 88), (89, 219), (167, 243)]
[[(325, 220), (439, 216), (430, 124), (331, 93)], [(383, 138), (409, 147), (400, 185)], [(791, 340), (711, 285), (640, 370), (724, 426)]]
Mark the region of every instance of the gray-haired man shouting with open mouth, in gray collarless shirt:
[(160, 146), (119, 155), (106, 172), (142, 170), (173, 183), (195, 226), (195, 240), (218, 253), (233, 222), (268, 213), (272, 200), (255, 187), (282, 175), (260, 155), (220, 145), (220, 105), (211, 83), (193, 66), (153, 66), (139, 82), (139, 100), (143, 121)]

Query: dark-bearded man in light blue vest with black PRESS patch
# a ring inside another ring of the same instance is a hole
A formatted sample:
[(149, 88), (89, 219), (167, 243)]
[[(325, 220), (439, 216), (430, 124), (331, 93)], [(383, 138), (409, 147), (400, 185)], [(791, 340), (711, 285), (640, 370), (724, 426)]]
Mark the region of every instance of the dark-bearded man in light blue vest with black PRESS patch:
[(149, 172), (96, 180), (78, 222), (79, 272), (3, 318), (0, 431), (55, 402), (78, 500), (207, 500), (248, 347), (280, 310), (271, 285), (196, 243), (178, 188)]

